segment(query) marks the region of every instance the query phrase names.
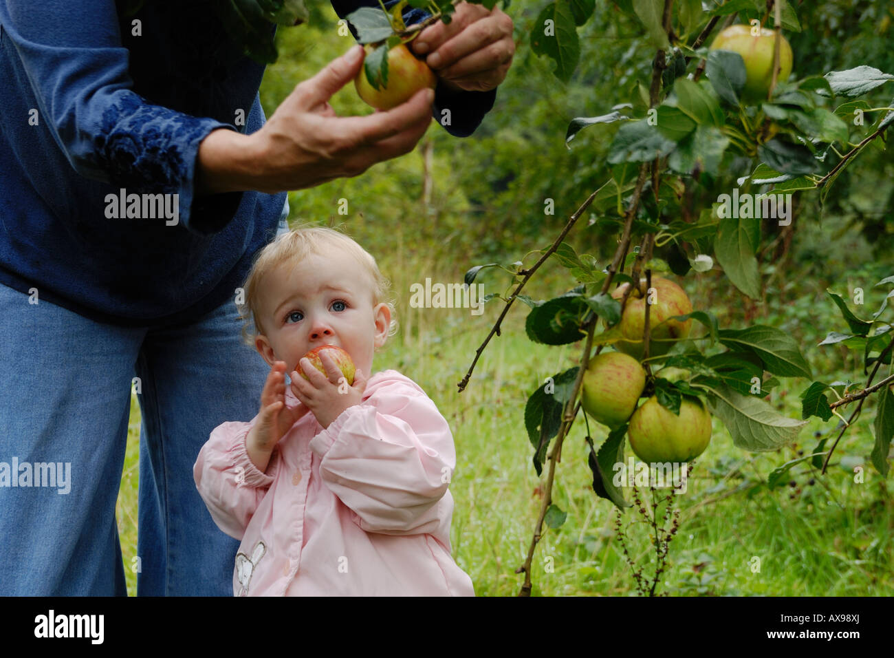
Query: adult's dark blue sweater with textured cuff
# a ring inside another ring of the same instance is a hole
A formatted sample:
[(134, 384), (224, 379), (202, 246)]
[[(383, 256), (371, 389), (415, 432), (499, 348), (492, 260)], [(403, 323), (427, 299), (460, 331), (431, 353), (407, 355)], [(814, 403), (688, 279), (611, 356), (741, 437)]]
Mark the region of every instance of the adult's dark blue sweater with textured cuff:
[[(286, 194), (193, 193), (208, 132), (265, 121), (264, 67), (232, 47), (208, 7), (220, 1), (149, 0), (125, 17), (114, 0), (0, 0), (0, 283), (122, 326), (233, 298)], [(342, 16), (360, 4), (377, 2), (333, 0)], [(495, 93), (453, 99), (448, 132), (474, 132)]]

